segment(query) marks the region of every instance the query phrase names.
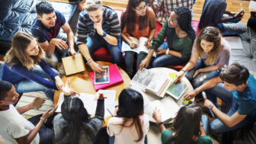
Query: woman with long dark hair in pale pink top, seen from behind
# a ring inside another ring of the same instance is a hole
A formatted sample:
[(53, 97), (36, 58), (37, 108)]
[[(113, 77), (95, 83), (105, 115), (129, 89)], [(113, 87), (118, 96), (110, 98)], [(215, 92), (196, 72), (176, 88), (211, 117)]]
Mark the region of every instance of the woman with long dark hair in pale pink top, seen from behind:
[(107, 124), (110, 144), (147, 143), (149, 116), (144, 114), (142, 94), (126, 88), (120, 93), (118, 102), (114, 117)]

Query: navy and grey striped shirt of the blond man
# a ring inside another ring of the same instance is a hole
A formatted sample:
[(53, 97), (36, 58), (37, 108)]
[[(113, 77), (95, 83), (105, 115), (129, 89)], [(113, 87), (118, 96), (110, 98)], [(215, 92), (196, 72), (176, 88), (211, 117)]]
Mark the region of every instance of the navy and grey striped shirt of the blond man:
[[(118, 20), (117, 12), (114, 9), (107, 6), (103, 6), (104, 11), (102, 14), (102, 30), (106, 31), (110, 36), (117, 38), (119, 43), (121, 40), (121, 29)], [(86, 44), (87, 36), (94, 36), (97, 30), (94, 29), (94, 22), (91, 21), (87, 11), (81, 11), (78, 18), (77, 24), (77, 41), (76, 45)]]

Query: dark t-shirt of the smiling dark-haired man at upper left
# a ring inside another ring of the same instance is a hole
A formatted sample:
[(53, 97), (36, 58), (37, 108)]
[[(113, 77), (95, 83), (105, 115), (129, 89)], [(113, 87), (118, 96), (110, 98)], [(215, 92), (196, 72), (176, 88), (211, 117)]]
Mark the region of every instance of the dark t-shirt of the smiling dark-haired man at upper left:
[(50, 40), (58, 36), (60, 27), (66, 23), (66, 19), (62, 13), (55, 11), (55, 14), (55, 26), (51, 28), (43, 25), (42, 21), (38, 18), (34, 19), (31, 25), (31, 34), (33, 34), (34, 37), (37, 37), (38, 43), (44, 43), (46, 40), (50, 43)]

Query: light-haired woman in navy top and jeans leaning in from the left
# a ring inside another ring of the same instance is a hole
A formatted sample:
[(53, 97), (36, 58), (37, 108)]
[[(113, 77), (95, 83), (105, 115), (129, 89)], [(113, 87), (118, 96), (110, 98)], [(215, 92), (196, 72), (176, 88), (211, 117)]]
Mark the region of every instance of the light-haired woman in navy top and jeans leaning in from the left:
[[(11, 82), (18, 93), (43, 91), (53, 101), (54, 91), (62, 88), (63, 82), (59, 72), (51, 69), (44, 57), (37, 39), (32, 34), (18, 31), (11, 39), (11, 50), (5, 56), (2, 80)], [(39, 66), (35, 65), (36, 62)]]

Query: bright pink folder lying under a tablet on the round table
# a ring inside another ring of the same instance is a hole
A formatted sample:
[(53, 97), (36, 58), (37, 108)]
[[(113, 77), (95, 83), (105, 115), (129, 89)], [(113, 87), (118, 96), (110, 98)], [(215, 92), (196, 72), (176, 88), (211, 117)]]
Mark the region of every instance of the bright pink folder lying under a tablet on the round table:
[(119, 72), (119, 69), (117, 68), (116, 64), (113, 64), (109, 66), (109, 71), (110, 71), (110, 83), (108, 84), (101, 84), (101, 85), (94, 85), (94, 72), (90, 72), (89, 75), (91, 77), (91, 82), (94, 85), (94, 88), (96, 91), (107, 88), (111, 85), (116, 85), (120, 82), (123, 82), (123, 77)]

